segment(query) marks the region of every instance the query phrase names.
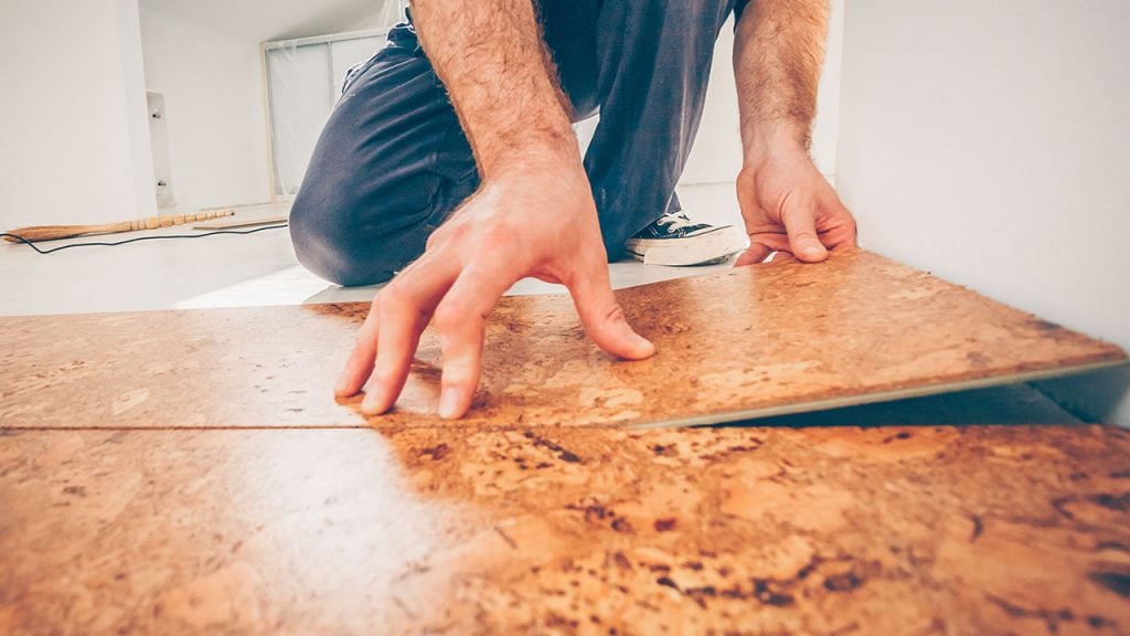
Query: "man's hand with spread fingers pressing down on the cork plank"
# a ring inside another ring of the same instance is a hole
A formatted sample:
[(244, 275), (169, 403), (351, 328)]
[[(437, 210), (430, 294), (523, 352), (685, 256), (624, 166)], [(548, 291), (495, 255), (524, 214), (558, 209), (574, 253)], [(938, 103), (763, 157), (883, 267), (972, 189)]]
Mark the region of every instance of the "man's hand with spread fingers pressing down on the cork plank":
[(531, 171), (483, 187), (432, 235), (424, 256), (381, 290), (337, 394), (357, 393), (372, 376), (362, 411), (392, 407), (434, 315), (443, 351), (440, 415), (462, 416), (479, 384), (487, 315), (525, 276), (564, 284), (605, 351), (632, 360), (655, 352), (612, 295), (584, 173), (563, 180)]

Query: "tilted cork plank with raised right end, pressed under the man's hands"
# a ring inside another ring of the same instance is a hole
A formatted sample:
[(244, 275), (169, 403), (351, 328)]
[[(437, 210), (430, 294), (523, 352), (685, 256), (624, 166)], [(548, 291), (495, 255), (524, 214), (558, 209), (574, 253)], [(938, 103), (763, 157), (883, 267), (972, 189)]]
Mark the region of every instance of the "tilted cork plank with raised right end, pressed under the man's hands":
[[(836, 253), (618, 292), (651, 360), (588, 341), (567, 296), (492, 315), (459, 426), (714, 423), (927, 395), (1125, 362), (1118, 347), (879, 256)], [(425, 333), (391, 414), (330, 387), (365, 303), (0, 319), (0, 426), (433, 426)]]

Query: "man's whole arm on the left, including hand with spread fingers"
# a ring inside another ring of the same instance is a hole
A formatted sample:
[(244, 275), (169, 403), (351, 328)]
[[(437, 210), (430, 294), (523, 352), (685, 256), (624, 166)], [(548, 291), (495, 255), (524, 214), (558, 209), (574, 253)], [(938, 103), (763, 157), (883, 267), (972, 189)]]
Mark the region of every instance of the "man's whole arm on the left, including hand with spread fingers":
[(374, 299), (339, 396), (372, 376), (362, 409), (388, 411), (435, 318), (440, 415), (462, 416), (478, 387), (486, 317), (525, 276), (559, 282), (589, 336), (626, 359), (654, 346), (612, 295), (596, 205), (531, 0), (414, 0), (412, 18), (451, 97), (481, 186)]

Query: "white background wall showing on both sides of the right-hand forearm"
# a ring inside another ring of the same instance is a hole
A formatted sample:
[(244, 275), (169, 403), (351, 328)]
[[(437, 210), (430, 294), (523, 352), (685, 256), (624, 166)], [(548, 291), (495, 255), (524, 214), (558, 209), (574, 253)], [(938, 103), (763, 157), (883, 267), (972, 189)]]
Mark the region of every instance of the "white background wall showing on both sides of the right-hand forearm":
[[(812, 129), (812, 158), (826, 175), (835, 174), (836, 128), (840, 112), (840, 66), (844, 0), (832, 0), (827, 57), (820, 77), (817, 117)], [(683, 172), (681, 183), (732, 182), (741, 169), (738, 130), (738, 89), (733, 78), (733, 20), (714, 46), (714, 66), (698, 137)]]

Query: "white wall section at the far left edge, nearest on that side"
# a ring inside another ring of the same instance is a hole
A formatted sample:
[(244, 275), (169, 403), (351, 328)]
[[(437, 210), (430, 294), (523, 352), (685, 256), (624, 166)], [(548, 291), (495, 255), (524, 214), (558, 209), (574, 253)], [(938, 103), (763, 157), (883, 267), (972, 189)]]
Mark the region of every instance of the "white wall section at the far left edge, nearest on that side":
[(136, 0), (0, 3), (0, 226), (153, 214)]

